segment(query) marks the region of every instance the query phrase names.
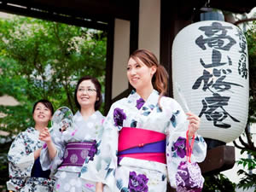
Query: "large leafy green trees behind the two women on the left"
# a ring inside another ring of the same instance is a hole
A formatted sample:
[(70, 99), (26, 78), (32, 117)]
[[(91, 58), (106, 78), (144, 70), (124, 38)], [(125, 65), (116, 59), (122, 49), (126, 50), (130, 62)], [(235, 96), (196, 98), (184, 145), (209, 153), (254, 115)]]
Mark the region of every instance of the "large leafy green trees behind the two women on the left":
[(77, 80), (91, 75), (104, 82), (103, 32), (15, 16), (0, 20), (0, 37), (0, 96), (20, 102), (0, 106), (0, 112), (7, 114), (0, 119), (1, 130), (16, 134), (32, 125), (32, 105), (41, 98), (75, 112)]

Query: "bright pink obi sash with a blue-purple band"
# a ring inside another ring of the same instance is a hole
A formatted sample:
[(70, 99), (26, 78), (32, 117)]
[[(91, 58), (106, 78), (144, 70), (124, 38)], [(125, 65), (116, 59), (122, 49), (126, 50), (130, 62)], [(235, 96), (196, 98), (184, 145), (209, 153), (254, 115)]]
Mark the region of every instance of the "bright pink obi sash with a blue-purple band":
[(119, 131), (119, 160), (131, 157), (166, 164), (166, 134), (123, 127)]

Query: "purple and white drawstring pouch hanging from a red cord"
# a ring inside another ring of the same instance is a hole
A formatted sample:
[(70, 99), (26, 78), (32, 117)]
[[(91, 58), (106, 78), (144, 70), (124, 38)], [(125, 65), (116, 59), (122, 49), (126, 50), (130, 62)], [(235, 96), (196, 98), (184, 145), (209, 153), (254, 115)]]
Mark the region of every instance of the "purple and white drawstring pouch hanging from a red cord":
[(177, 192), (201, 192), (203, 183), (204, 177), (197, 163), (180, 162), (176, 173)]

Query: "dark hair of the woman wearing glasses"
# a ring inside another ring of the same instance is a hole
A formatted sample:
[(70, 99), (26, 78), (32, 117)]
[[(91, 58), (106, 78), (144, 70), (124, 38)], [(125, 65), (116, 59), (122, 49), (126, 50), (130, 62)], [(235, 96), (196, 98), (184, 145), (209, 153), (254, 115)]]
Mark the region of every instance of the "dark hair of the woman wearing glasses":
[(102, 85), (100, 84), (98, 79), (90, 77), (89, 75), (80, 78), (79, 82), (78, 82), (78, 84), (76, 86), (76, 90), (74, 92), (74, 100), (75, 100), (76, 106), (79, 108), (79, 111), (80, 111), (81, 110), (81, 106), (80, 106), (80, 104), (78, 102), (77, 93), (78, 93), (78, 90), (79, 90), (79, 84), (81, 84), (84, 80), (90, 80), (95, 85), (95, 87), (96, 87), (96, 97), (98, 99), (96, 99), (96, 102), (95, 102), (95, 105), (94, 105), (94, 109), (98, 110), (101, 107), (101, 105), (102, 105)]

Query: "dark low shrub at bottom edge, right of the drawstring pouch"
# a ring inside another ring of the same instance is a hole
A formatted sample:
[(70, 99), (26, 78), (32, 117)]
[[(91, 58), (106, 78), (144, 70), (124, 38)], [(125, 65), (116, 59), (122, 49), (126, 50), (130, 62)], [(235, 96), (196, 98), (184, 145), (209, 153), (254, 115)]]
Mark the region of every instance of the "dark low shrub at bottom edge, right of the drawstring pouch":
[(202, 192), (236, 192), (236, 183), (230, 182), (224, 174), (212, 174), (205, 176)]

